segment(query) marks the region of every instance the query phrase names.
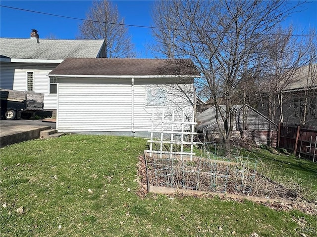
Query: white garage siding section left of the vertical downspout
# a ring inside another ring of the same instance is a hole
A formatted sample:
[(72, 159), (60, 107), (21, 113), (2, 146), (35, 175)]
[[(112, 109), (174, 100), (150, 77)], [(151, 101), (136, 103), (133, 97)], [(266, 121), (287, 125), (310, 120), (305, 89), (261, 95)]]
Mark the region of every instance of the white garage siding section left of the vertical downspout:
[(129, 131), (131, 108), (129, 79), (59, 79), (59, 131)]

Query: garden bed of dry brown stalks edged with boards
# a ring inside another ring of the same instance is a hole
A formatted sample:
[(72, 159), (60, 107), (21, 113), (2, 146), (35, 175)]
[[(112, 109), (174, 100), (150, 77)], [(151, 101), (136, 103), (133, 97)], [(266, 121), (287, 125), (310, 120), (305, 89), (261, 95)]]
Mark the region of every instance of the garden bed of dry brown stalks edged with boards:
[(298, 199), (296, 190), (286, 188), (257, 172), (257, 161), (251, 158), (190, 159), (146, 154), (145, 161), (149, 187)]

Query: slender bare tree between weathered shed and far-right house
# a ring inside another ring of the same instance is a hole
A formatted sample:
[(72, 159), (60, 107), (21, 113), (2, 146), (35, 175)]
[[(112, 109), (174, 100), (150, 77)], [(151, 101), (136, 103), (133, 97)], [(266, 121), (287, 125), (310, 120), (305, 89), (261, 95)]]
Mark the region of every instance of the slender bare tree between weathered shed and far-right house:
[(264, 42), (263, 50), (266, 62), (262, 92), (259, 93), (264, 92), (268, 96), (268, 117), (284, 122), (284, 100), (288, 99), (288, 94), (284, 91), (298, 80), (296, 72), (303, 66), (305, 44), (293, 36), (292, 27), (286, 30), (278, 28), (274, 35)]

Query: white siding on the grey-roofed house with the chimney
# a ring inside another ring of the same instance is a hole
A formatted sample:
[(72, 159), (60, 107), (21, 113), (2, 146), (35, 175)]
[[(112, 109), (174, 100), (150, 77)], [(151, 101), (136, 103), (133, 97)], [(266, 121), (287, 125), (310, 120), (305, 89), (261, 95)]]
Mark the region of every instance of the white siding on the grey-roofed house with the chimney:
[(25, 91), (27, 88), (27, 73), (33, 72), (34, 92), (44, 94), (44, 109), (54, 110), (57, 107), (57, 95), (50, 94), (50, 79), (48, 74), (57, 64), (36, 63), (5, 63), (0, 64), (0, 86), (3, 89)]

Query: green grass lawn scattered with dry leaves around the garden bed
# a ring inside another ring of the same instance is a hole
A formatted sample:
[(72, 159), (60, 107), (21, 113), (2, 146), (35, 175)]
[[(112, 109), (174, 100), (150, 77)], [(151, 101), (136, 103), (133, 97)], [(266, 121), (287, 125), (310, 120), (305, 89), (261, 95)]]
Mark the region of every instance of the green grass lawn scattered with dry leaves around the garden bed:
[[(296, 210), (218, 197), (137, 196), (136, 165), (144, 149), (145, 139), (84, 135), (2, 148), (1, 236), (299, 237), (300, 230), (317, 236), (317, 217)], [(317, 183), (312, 162), (262, 150), (253, 155), (292, 178)]]

